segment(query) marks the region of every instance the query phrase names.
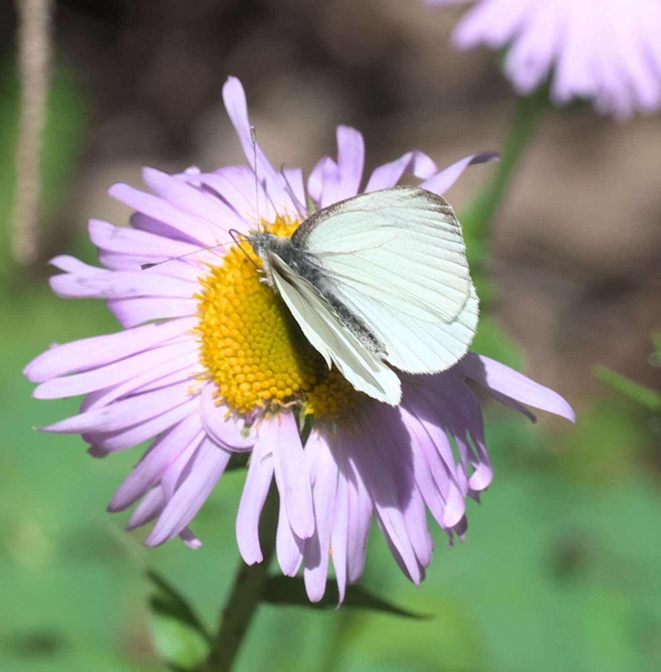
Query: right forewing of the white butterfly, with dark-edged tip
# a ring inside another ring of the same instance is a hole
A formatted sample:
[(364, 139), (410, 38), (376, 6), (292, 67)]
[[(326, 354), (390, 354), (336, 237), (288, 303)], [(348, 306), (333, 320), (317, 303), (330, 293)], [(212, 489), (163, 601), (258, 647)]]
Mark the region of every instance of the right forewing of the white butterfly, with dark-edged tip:
[(347, 293), (449, 323), (470, 297), (466, 246), (449, 203), (419, 187), (360, 194), (308, 218), (292, 245)]

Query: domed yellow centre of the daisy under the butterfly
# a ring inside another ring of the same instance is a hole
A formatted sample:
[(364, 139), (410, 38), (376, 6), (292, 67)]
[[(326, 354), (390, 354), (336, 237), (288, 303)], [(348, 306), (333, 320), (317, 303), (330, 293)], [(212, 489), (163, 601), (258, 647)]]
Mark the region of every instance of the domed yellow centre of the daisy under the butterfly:
[[(298, 224), (278, 216), (265, 228), (288, 238)], [(241, 415), (300, 405), (303, 413), (332, 419), (355, 408), (365, 395), (328, 370), (281, 298), (259, 282), (260, 268), (245, 241), (200, 278), (201, 361), (216, 383), (218, 403)]]

